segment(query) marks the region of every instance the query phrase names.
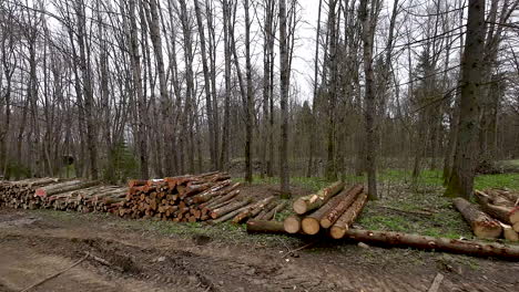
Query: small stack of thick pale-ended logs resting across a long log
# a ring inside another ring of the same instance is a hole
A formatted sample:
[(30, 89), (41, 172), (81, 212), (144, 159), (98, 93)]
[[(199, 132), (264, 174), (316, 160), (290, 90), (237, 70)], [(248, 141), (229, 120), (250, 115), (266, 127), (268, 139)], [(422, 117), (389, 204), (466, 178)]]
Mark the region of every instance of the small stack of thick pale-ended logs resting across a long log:
[(362, 185), (345, 188), (344, 182), (337, 181), (297, 199), (293, 205), (296, 215), (285, 219), (284, 230), (313, 236), (324, 229), (335, 239), (343, 238), (366, 205), (367, 195), (363, 190)]

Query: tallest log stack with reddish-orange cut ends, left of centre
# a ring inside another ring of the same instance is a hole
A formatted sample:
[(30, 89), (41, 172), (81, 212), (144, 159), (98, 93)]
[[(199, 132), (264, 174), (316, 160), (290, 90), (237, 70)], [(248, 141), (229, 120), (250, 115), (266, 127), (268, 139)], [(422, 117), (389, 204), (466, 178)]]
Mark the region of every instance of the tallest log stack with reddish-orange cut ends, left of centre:
[(260, 201), (241, 198), (240, 182), (232, 184), (223, 173), (186, 175), (152, 180), (130, 180), (130, 189), (119, 209), (124, 218), (155, 218), (176, 222), (271, 219), (271, 210), (279, 211), (274, 197)]

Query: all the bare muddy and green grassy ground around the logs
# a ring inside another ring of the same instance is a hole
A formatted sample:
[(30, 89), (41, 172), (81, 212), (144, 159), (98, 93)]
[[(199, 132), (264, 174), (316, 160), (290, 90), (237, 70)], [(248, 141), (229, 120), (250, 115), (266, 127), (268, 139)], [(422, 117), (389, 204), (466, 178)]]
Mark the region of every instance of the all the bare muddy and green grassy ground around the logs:
[[(411, 186), (390, 176), (399, 175), (383, 176), (383, 198), (367, 205), (357, 226), (471, 238), (462, 218), (440, 196), (436, 178), (426, 174)], [(513, 184), (507, 179), (482, 177), (477, 185)], [(293, 181), (295, 196), (326, 184)], [(258, 180), (245, 186), (243, 196), (263, 197), (276, 189), (273, 181)], [(288, 252), (301, 247), (306, 248)], [(0, 292), (20, 291), (86, 253), (79, 265), (31, 291), (427, 291), (438, 273), (445, 277), (439, 291), (519, 286), (519, 263), (498, 259), (365, 247), (324, 237), (251, 236), (243, 226), (230, 223), (0, 208)]]

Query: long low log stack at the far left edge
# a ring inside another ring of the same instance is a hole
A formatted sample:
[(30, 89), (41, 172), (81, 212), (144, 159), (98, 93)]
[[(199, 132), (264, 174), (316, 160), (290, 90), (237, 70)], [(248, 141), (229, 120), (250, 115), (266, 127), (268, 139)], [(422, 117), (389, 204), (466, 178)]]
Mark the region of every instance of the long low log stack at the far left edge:
[(99, 181), (30, 178), (0, 182), (0, 206), (23, 209), (115, 212), (128, 188)]

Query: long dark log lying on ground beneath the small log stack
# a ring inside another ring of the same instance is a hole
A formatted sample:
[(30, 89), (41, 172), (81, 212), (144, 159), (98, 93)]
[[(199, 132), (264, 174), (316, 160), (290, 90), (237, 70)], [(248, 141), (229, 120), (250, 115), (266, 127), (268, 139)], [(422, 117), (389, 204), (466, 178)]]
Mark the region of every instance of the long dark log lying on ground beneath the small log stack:
[[(258, 220), (251, 220), (250, 223), (247, 223), (247, 232), (283, 233), (283, 230), (285, 230), (282, 222), (267, 222), (268, 223)], [(373, 231), (362, 229), (348, 229), (345, 237), (360, 242), (386, 247), (415, 248), (476, 257), (497, 257), (509, 260), (519, 260), (519, 246), (513, 244), (487, 243), (474, 240), (434, 238), (394, 231)]]

